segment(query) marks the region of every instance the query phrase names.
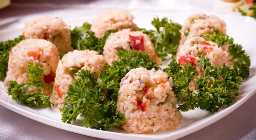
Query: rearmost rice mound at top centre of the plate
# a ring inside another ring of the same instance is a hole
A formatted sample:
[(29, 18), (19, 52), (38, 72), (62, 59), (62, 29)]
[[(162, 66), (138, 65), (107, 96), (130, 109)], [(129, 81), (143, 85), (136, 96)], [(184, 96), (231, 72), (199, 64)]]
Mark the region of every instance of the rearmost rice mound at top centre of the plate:
[(127, 10), (107, 10), (93, 20), (90, 30), (98, 38), (102, 38), (107, 30), (120, 31), (130, 28), (131, 31), (137, 31), (138, 27), (133, 23), (133, 19), (133, 15)]

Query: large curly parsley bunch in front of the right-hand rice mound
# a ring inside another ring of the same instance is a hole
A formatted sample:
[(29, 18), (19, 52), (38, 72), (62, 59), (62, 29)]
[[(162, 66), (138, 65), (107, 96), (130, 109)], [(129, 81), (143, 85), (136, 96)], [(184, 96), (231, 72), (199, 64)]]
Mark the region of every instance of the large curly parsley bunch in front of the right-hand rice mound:
[[(196, 74), (195, 67), (187, 64), (172, 62), (164, 71), (173, 79), (173, 90), (177, 101), (183, 104), (178, 107), (180, 111), (189, 109), (206, 109), (209, 112), (217, 112), (222, 106), (230, 105), (234, 98), (239, 95), (239, 85), (242, 83), (241, 76), (236, 74), (234, 67), (223, 64), (222, 68), (209, 63), (209, 59), (199, 56), (204, 70), (204, 77), (197, 78), (197, 89), (190, 91), (188, 85)], [(220, 78), (221, 77), (221, 78)], [(210, 80), (208, 83), (206, 80)]]

